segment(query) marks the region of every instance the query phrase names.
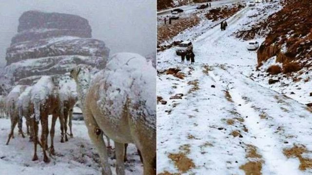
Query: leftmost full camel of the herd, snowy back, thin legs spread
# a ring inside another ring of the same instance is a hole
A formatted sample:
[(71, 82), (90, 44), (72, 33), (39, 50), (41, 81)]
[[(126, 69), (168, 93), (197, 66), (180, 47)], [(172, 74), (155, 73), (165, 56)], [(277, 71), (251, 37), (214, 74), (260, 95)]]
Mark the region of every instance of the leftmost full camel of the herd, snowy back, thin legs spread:
[(10, 93), (6, 97), (6, 113), (10, 116), (11, 120), (11, 131), (6, 144), (9, 144), (10, 139), (14, 138), (14, 128), (17, 123), (19, 123), (19, 133), (22, 135), (23, 138), (25, 137), (22, 131), (22, 121), (20, 121), (19, 111), (17, 107), (18, 98), (20, 97), (20, 94), (25, 90), (25, 88), (26, 86), (17, 85), (10, 91)]

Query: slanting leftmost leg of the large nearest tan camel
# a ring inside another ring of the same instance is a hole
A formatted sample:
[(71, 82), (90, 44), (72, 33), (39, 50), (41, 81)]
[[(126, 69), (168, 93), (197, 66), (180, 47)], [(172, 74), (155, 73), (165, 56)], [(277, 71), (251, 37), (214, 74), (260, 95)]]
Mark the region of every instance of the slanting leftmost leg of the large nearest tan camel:
[(84, 118), (89, 137), (98, 150), (102, 163), (102, 175), (112, 175), (111, 166), (108, 162), (107, 148), (103, 139), (103, 132), (96, 132), (99, 127), (92, 114), (86, 114)]

